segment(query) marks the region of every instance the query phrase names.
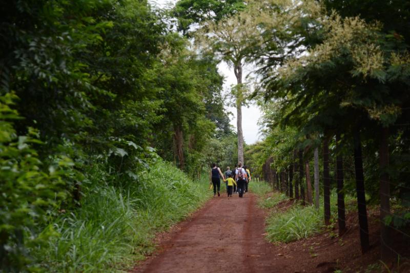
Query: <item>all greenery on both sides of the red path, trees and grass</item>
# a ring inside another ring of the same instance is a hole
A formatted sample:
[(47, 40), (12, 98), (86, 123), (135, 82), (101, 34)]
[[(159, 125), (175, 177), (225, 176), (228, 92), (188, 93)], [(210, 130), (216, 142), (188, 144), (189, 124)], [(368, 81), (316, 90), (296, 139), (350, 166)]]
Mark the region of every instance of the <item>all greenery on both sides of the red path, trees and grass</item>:
[[(363, 252), (368, 203), (383, 259), (397, 254), (393, 232), (410, 238), (408, 1), (39, 0), (2, 2), (0, 15), (1, 270), (129, 266), (206, 199), (212, 161), (244, 159), (315, 204), (272, 226), (309, 212), (320, 227), (337, 208), (343, 234), (348, 194)], [(220, 61), (237, 79), (228, 95)], [(250, 99), (264, 138), (246, 145)]]

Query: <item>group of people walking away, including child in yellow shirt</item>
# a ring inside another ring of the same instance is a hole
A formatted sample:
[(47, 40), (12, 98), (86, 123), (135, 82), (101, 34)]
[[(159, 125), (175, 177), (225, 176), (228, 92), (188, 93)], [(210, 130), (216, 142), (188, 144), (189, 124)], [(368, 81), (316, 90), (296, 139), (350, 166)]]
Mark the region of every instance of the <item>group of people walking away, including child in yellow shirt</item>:
[(230, 167), (227, 167), (227, 171), (222, 174), (219, 167), (212, 163), (212, 169), (210, 172), (210, 179), (214, 187), (214, 197), (216, 194), (220, 196), (221, 177), (227, 186), (228, 198), (232, 197), (233, 193), (237, 193), (239, 197), (243, 197), (244, 193), (248, 192), (248, 184), (251, 181), (251, 173), (247, 169), (247, 166), (242, 166), (242, 162), (239, 162), (233, 171)]

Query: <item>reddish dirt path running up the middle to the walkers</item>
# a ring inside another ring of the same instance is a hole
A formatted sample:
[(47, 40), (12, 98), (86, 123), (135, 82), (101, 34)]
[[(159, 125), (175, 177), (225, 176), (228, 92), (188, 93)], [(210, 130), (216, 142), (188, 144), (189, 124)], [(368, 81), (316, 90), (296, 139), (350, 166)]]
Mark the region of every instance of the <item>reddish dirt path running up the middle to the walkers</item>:
[(289, 257), (263, 238), (265, 214), (256, 199), (213, 198), (134, 272), (289, 272)]

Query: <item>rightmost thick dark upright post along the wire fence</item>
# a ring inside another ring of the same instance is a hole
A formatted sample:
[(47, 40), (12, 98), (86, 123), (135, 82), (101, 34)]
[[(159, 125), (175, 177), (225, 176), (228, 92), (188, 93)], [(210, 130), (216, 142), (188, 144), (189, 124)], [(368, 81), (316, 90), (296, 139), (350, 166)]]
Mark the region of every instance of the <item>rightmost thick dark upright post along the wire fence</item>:
[(390, 215), (390, 185), (388, 173), (388, 128), (382, 128), (380, 140), (380, 258), (387, 262), (393, 256), (391, 250), (392, 236), (391, 229), (384, 224), (384, 218)]

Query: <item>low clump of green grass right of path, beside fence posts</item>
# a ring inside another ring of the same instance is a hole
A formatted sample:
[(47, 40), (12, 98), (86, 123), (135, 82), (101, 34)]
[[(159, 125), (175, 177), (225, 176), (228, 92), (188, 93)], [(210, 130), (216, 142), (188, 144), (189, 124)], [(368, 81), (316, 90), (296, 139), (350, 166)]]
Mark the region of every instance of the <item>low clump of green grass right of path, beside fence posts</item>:
[[(331, 194), (332, 222), (337, 220), (337, 194)], [(354, 198), (345, 197), (346, 211), (355, 208)], [(285, 212), (273, 211), (267, 221), (267, 238), (271, 242), (292, 242), (308, 238), (321, 232), (324, 228), (323, 222), (323, 199), (320, 201), (319, 209), (312, 206), (301, 206), (298, 202)]]

